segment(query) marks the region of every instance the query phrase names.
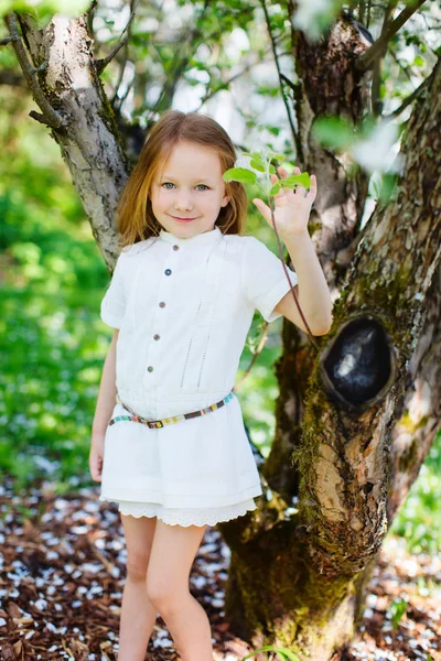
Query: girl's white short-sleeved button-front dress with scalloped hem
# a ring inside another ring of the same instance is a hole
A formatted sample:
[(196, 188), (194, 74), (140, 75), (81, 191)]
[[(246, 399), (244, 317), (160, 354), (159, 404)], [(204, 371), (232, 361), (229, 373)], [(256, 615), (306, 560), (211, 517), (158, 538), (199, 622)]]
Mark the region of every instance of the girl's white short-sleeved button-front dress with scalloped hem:
[[(265, 243), (217, 226), (184, 239), (161, 229), (122, 249), (100, 307), (103, 322), (120, 329), (121, 401), (154, 420), (218, 402), (234, 387), (255, 310), (275, 321), (288, 291)], [(116, 415), (128, 412), (116, 403)], [(235, 393), (215, 411), (161, 429), (107, 426), (99, 499), (118, 502), (123, 514), (215, 525), (256, 509), (261, 494)]]

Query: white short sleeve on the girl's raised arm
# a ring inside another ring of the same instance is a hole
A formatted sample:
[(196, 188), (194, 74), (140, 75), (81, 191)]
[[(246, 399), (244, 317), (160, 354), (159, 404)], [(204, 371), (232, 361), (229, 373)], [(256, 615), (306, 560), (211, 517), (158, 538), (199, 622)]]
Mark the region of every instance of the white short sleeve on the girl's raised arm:
[[(297, 273), (288, 266), (287, 271), (294, 286), (298, 282)], [(267, 322), (282, 316), (275, 312), (275, 307), (291, 288), (280, 258), (256, 237), (245, 237), (241, 282), (246, 299)]]

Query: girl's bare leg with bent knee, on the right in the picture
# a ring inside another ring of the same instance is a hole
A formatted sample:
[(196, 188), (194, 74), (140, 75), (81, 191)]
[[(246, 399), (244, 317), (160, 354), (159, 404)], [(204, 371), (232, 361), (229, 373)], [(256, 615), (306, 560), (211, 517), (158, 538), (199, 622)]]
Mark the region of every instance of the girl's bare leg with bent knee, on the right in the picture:
[(190, 593), (190, 571), (206, 525), (157, 522), (147, 594), (165, 621), (182, 661), (213, 661), (208, 617)]

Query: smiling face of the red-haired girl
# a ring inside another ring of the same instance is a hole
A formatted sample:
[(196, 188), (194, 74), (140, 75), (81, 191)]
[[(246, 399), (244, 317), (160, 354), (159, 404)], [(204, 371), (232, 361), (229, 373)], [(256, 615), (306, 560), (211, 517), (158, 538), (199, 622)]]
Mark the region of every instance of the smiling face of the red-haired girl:
[(182, 238), (211, 231), (229, 201), (218, 155), (194, 142), (178, 143), (154, 176), (149, 197), (165, 231)]

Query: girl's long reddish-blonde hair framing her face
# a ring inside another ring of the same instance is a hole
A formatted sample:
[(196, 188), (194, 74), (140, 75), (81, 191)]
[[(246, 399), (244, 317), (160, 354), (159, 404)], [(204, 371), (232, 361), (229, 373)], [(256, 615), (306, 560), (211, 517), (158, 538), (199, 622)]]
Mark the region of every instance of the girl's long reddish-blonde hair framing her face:
[[(153, 215), (149, 191), (159, 169), (181, 141), (213, 150), (222, 173), (233, 167), (236, 152), (228, 133), (211, 117), (166, 110), (151, 129), (117, 206), (121, 248), (158, 236), (162, 226)], [(229, 202), (220, 207), (216, 225), (223, 234), (245, 234), (247, 195), (243, 184), (225, 183)]]

